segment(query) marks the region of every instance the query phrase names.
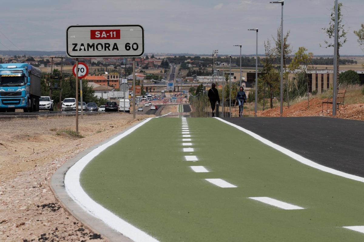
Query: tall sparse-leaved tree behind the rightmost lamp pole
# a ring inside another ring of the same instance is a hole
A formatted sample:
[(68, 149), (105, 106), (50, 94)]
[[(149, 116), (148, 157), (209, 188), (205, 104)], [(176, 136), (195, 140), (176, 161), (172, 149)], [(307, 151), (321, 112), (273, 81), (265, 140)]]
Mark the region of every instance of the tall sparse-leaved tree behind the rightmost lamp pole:
[[(338, 35), (337, 35), (337, 38), (338, 38), (338, 41), (337, 41), (337, 73), (338, 74), (339, 74), (339, 60), (340, 60), (339, 50), (348, 41), (346, 38), (347, 32), (345, 32), (345, 29), (344, 29), (345, 25), (342, 24), (343, 15), (341, 14), (341, 7), (343, 7), (342, 3), (337, 4), (337, 33), (338, 33)], [(332, 10), (332, 12), (331, 12), (329, 27), (322, 28), (326, 32), (329, 39), (335, 38), (335, 3), (334, 3), (334, 7), (331, 10)], [(329, 41), (325, 40), (324, 42), (326, 45), (325, 48), (335, 46), (335, 40), (333, 42), (329, 42)]]

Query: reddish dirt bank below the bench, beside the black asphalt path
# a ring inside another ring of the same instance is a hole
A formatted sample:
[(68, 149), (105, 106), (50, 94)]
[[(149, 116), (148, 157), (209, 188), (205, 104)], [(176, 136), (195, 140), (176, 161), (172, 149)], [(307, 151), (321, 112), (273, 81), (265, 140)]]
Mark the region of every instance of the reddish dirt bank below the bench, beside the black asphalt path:
[[(291, 105), (289, 108), (287, 106), (283, 107), (283, 116), (293, 117), (293, 116), (330, 116), (332, 117), (332, 104), (324, 104), (322, 106), (323, 99), (321, 98), (313, 98), (310, 99), (310, 105), (307, 109), (307, 101), (302, 101), (300, 103)], [(343, 108), (340, 105), (340, 112), (337, 110), (336, 118), (343, 119), (355, 119), (355, 120), (364, 120), (364, 103), (350, 104), (345, 105)], [(239, 109), (236, 108), (234, 110), (233, 116), (238, 116)], [(244, 115), (254, 116), (253, 111), (244, 111)], [(273, 109), (267, 110), (258, 110), (258, 116), (266, 116), (266, 117), (279, 117), (280, 116), (280, 107), (276, 107)]]

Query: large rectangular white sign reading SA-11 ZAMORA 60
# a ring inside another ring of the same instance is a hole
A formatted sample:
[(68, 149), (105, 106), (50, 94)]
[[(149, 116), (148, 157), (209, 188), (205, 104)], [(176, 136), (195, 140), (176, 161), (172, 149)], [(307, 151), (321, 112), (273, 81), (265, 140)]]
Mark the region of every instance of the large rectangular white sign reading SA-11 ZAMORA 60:
[(139, 57), (144, 53), (141, 25), (72, 25), (66, 31), (67, 55)]

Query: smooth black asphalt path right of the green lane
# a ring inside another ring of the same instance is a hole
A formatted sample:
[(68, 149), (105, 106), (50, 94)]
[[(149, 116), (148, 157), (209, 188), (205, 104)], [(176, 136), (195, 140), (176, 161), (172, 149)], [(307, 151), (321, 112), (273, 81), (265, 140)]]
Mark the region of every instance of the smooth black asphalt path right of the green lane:
[(363, 121), (327, 117), (224, 119), (316, 163), (364, 176)]

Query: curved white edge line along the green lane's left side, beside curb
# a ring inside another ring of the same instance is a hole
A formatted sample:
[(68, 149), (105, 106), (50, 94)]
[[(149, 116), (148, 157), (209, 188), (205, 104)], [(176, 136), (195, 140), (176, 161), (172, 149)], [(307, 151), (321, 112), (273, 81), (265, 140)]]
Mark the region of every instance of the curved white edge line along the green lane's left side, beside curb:
[(108, 141), (107, 143), (100, 145), (79, 161), (77, 161), (64, 176), (64, 185), (68, 196), (70, 196), (82, 209), (92, 216), (99, 218), (112, 229), (124, 234), (135, 242), (159, 242), (157, 239), (151, 237), (149, 234), (143, 232), (142, 230), (134, 227), (130, 223), (122, 220), (115, 214), (111, 213), (109, 210), (92, 200), (87, 193), (82, 189), (80, 184), (80, 173), (86, 167), (86, 165), (100, 152), (115, 144), (120, 139), (124, 138), (143, 124), (147, 123), (152, 118), (148, 118), (145, 121), (139, 123), (138, 125), (130, 128), (128, 131), (120, 134), (114, 139)]

